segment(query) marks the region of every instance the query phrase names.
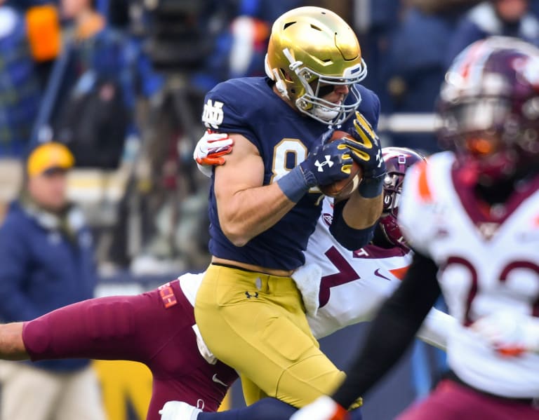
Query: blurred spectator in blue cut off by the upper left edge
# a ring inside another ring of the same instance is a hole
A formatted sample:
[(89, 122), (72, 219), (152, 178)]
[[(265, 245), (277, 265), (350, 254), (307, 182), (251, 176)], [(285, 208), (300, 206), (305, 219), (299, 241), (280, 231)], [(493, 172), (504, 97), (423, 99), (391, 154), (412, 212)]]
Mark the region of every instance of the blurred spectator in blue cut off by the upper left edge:
[(25, 20), (0, 0), (0, 157), (22, 158), (40, 97)]

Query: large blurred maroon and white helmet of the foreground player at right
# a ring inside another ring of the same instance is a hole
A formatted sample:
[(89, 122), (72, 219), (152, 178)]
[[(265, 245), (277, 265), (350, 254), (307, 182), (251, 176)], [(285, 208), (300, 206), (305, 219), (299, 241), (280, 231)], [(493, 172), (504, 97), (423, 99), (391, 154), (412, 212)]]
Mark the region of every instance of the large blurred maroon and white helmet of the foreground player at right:
[(539, 49), (503, 36), (477, 41), (441, 86), (439, 138), (477, 179), (511, 178), (539, 160)]

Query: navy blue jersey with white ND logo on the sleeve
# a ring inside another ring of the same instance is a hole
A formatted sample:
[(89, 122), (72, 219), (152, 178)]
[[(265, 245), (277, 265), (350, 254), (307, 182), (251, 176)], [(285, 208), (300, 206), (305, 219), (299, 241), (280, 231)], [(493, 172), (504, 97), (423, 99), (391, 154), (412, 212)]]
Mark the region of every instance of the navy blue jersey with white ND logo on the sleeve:
[[(204, 100), (202, 120), (213, 130), (241, 134), (257, 147), (264, 161), (264, 185), (276, 182), (307, 153), (320, 144), (328, 130), (324, 123), (292, 109), (272, 90), (265, 77), (231, 79), (215, 86)], [(359, 111), (375, 128), (380, 114), (378, 97), (359, 86)], [(350, 118), (341, 127), (352, 125)], [(217, 204), (210, 191), (210, 243), (212, 255), (270, 269), (296, 269), (304, 264), (302, 251), (320, 215), (320, 191), (312, 189), (277, 224), (243, 247), (233, 245), (222, 233)]]

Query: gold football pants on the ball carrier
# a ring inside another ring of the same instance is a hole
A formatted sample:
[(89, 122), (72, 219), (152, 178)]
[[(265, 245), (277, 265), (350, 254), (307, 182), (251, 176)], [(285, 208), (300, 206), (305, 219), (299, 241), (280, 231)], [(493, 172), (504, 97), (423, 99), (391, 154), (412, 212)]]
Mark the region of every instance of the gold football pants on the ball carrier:
[(303, 407), (344, 380), (312, 336), (292, 278), (211, 264), (194, 314), (212, 353), (248, 379), (247, 404), (269, 395)]

